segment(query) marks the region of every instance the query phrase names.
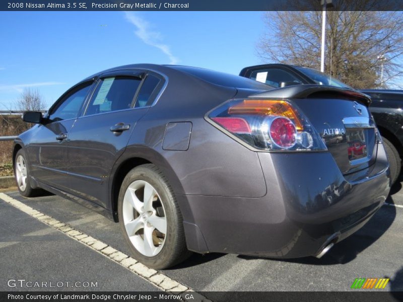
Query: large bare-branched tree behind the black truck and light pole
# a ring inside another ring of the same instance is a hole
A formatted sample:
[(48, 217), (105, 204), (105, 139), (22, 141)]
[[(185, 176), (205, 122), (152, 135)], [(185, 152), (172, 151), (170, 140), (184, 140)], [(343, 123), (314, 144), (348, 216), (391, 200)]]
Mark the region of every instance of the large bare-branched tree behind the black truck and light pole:
[[(369, 2), (355, 0), (354, 5), (359, 8)], [(326, 15), (326, 73), (357, 89), (387, 87), (402, 75), (403, 12), (338, 11), (336, 7)], [(267, 34), (257, 45), (263, 61), (319, 69), (321, 11), (267, 12), (264, 22)]]

